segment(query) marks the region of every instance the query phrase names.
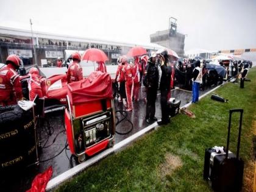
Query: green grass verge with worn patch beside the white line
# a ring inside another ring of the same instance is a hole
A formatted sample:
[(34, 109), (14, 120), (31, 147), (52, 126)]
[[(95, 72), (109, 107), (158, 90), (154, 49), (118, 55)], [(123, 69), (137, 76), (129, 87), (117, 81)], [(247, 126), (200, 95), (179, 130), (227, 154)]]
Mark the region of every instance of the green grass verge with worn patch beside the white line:
[[(244, 89), (228, 83), (215, 93), (228, 103), (210, 95), (189, 108), (196, 118), (177, 115), (168, 126), (148, 133), (124, 151), (110, 155), (79, 176), (63, 183), (57, 191), (212, 191), (202, 179), (205, 148), (226, 146), (230, 108), (243, 108), (240, 157), (245, 169), (254, 160), (253, 129), (256, 117), (256, 68), (249, 71)], [(239, 116), (233, 116), (230, 151), (236, 151)], [(236, 126), (237, 125), (237, 126)], [(178, 156), (182, 166), (161, 176), (165, 155)], [(252, 176), (252, 171), (245, 172)], [(246, 190), (246, 189), (244, 189)]]

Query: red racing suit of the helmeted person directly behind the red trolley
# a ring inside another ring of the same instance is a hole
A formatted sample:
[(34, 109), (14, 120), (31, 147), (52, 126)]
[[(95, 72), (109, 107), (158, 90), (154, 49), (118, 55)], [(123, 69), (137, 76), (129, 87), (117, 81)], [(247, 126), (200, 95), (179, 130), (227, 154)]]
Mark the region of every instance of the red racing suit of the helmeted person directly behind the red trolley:
[(68, 84), (83, 79), (83, 71), (78, 62), (74, 61), (69, 65), (66, 79), (68, 80)]

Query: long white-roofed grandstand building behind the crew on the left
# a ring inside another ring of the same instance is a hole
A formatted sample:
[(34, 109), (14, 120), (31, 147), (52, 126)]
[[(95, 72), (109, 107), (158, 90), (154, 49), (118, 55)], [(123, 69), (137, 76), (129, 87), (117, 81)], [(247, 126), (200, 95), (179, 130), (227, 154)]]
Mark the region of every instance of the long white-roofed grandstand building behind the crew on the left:
[[(102, 40), (71, 35), (49, 34), (46, 32), (15, 29), (0, 26), (0, 63), (10, 54), (26, 58), (24, 65), (44, 62), (56, 63), (58, 57), (67, 59), (66, 50), (85, 51), (89, 48), (102, 49), (108, 56), (106, 64), (116, 63), (120, 55), (127, 54), (133, 46), (143, 46), (148, 52), (163, 48), (158, 44), (135, 44)], [(36, 55), (36, 57), (35, 57)], [(36, 59), (35, 59), (36, 58)]]

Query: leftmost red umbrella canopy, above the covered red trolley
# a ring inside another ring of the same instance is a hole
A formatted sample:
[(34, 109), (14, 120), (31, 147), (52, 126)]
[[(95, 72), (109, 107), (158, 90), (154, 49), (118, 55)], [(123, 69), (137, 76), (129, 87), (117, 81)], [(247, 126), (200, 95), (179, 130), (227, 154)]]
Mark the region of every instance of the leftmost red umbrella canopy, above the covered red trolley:
[(101, 49), (87, 49), (82, 55), (82, 60), (87, 60), (91, 62), (105, 62), (108, 60), (105, 52), (101, 51)]

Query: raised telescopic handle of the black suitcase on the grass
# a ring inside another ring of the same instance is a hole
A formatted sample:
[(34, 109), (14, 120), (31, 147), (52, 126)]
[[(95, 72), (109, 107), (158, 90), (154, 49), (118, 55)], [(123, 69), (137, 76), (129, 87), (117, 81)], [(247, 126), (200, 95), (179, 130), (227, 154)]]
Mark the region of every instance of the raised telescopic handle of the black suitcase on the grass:
[(230, 138), (230, 128), (231, 128), (231, 117), (232, 117), (232, 113), (234, 113), (234, 112), (240, 112), (239, 132), (238, 132), (237, 148), (236, 148), (236, 158), (239, 157), (240, 140), (241, 140), (241, 128), (242, 128), (242, 119), (243, 119), (244, 110), (241, 109), (241, 108), (236, 108), (236, 109), (230, 109), (229, 110), (229, 128), (228, 128), (228, 131), (227, 131), (226, 158), (229, 156), (229, 138)]

